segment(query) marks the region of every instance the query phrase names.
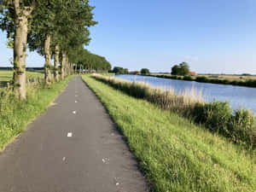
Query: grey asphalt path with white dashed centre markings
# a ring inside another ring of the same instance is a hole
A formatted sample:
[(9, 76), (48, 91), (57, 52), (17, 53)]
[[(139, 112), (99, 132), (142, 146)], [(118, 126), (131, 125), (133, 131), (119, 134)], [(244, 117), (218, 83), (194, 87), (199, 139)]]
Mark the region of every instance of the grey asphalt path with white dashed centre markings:
[(143, 192), (137, 162), (96, 96), (71, 79), (0, 154), (1, 192)]

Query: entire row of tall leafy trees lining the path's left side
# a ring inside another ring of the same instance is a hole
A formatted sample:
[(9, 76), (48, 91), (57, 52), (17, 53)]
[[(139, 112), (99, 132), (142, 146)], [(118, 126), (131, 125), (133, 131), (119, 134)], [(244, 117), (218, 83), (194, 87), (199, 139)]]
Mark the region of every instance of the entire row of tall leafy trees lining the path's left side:
[[(96, 25), (89, 0), (0, 0), (0, 28), (14, 49), (15, 95), (26, 98), (26, 48), (44, 55), (44, 79), (49, 85), (73, 71), (74, 63), (108, 69), (104, 57), (84, 49), (89, 27)], [(54, 58), (54, 75), (50, 72)], [(61, 76), (58, 72), (61, 63)]]

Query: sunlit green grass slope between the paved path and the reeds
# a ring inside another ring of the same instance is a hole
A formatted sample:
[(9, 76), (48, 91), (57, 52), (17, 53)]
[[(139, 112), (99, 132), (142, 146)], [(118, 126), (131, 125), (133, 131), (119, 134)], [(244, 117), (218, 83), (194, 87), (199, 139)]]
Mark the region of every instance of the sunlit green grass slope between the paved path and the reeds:
[(256, 191), (255, 151), (89, 76), (155, 191)]

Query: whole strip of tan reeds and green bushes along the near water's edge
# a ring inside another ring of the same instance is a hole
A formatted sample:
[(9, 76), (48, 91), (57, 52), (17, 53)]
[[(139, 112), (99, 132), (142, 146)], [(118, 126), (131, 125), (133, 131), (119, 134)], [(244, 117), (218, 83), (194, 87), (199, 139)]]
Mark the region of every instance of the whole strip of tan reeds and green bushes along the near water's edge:
[(228, 102), (205, 102), (202, 91), (195, 90), (194, 87), (175, 94), (173, 89), (155, 89), (143, 82), (131, 83), (99, 74), (93, 74), (93, 78), (130, 96), (145, 99), (160, 108), (179, 113), (195, 123), (205, 125), (210, 131), (229, 137), (235, 143), (256, 148), (255, 116), (246, 108), (234, 113)]

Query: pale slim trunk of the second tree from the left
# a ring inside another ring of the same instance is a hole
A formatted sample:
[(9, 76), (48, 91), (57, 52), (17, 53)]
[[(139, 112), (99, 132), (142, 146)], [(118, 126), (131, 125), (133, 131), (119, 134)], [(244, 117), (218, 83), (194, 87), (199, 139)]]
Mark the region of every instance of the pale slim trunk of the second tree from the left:
[(51, 84), (49, 45), (50, 45), (50, 36), (49, 34), (47, 34), (44, 41), (44, 55), (45, 55), (44, 80), (45, 80), (45, 84), (47, 85)]

